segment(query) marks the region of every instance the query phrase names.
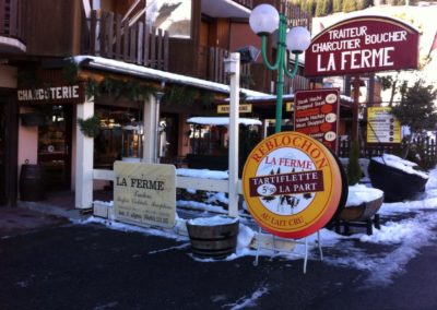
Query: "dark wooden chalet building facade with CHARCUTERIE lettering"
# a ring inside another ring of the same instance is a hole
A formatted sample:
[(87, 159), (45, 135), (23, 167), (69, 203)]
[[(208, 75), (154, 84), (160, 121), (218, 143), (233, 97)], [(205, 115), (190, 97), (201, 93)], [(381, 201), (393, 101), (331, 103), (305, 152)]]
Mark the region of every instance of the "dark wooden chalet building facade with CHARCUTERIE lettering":
[[(261, 2), (309, 27), (310, 17), (285, 0), (0, 0), (0, 204), (16, 201), (25, 163), (46, 166), (48, 190), (75, 190), (80, 163), (90, 157), (92, 169), (122, 157), (172, 162), (189, 153), (186, 120), (216, 115), (214, 103), (228, 96), (224, 58), (260, 48), (248, 17)], [(269, 48), (273, 57), (273, 40)], [(241, 72), (246, 95), (273, 93), (275, 74), (261, 59)], [(300, 75), (285, 82), (286, 94), (302, 88), (308, 82)], [(158, 128), (144, 123), (153, 111)], [(26, 122), (29, 115), (37, 120)], [(99, 135), (90, 142), (78, 120), (93, 115)], [(157, 153), (140, 145), (160, 134), (147, 130), (166, 133)], [(76, 195), (76, 207), (88, 205)]]

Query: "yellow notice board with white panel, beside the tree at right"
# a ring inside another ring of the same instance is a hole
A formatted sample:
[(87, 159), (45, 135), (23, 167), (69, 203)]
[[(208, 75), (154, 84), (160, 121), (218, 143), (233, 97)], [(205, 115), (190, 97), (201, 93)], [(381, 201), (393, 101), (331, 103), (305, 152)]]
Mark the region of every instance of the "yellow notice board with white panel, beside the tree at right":
[(367, 108), (367, 143), (401, 143), (401, 123), (390, 107)]

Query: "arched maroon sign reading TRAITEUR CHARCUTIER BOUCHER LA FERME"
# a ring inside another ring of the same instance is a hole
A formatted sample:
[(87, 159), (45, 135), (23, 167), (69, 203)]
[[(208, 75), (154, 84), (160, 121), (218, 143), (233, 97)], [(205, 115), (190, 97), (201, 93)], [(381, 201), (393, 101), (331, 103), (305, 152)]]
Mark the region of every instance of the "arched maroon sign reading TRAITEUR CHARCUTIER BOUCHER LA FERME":
[(305, 75), (417, 69), (416, 28), (391, 17), (357, 16), (318, 34), (305, 52)]

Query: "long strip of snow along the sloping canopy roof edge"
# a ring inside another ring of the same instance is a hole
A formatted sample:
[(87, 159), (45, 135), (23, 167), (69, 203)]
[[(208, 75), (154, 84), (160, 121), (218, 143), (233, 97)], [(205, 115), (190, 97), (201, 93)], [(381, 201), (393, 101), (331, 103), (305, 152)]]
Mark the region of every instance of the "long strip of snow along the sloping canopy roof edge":
[[(114, 59), (107, 59), (95, 56), (75, 56), (72, 58), (79, 65), (88, 67), (92, 69), (101, 69), (105, 71), (118, 72), (122, 74), (130, 74), (138, 78), (145, 78), (156, 81), (164, 81), (169, 83), (179, 83), (203, 90), (214, 91), (218, 93), (229, 93), (229, 85), (215, 83), (206, 80), (191, 78), (187, 75), (165, 72), (143, 65), (118, 61)], [(246, 88), (240, 90), (246, 96), (263, 96), (264, 93), (250, 91)]]

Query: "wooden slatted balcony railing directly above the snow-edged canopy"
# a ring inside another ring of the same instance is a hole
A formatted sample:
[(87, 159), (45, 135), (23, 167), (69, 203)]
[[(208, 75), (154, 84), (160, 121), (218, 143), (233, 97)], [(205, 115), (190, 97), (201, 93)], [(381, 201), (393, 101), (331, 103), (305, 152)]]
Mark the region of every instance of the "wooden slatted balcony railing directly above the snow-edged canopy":
[(86, 19), (88, 35), (82, 47), (85, 55), (101, 56), (168, 71), (168, 33), (139, 20), (130, 23), (121, 15), (92, 11)]

